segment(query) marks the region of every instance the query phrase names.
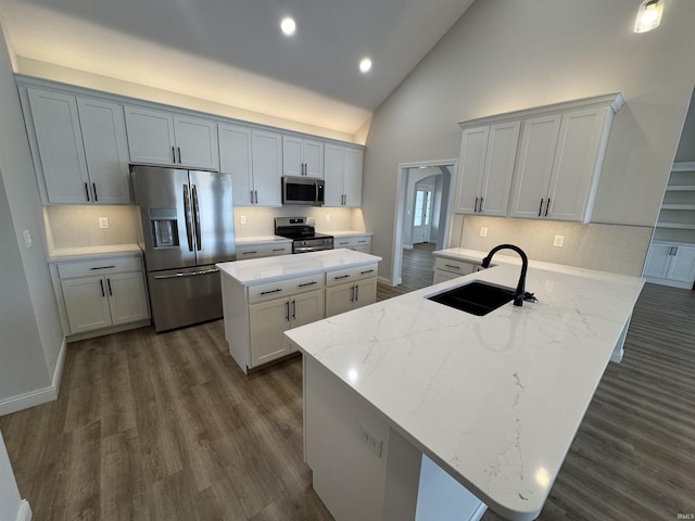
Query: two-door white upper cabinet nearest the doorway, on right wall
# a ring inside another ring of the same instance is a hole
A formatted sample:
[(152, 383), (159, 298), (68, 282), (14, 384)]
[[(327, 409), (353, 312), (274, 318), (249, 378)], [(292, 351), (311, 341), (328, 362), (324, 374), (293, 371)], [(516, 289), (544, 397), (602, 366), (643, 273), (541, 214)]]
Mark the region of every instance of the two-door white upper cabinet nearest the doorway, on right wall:
[(465, 128), (456, 212), (505, 216), (520, 122)]

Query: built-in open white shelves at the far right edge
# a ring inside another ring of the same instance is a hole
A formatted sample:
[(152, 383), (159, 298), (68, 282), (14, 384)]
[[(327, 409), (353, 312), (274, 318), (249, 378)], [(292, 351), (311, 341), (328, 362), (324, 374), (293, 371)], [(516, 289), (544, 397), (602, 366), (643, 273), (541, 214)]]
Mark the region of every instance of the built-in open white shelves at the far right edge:
[(695, 244), (695, 162), (673, 163), (654, 240)]

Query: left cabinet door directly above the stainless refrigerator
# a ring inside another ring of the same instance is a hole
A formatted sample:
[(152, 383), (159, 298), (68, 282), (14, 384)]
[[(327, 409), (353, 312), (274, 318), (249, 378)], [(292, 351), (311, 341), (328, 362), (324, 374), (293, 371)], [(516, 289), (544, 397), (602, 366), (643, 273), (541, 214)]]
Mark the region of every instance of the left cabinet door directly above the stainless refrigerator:
[(125, 112), (130, 161), (154, 165), (177, 165), (172, 115), (136, 106), (126, 106)]

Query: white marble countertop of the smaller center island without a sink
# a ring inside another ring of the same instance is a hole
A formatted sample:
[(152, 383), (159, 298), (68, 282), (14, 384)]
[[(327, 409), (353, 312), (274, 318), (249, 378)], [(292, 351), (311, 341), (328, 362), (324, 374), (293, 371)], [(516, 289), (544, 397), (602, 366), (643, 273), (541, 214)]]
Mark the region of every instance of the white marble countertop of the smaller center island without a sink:
[(353, 268), (378, 263), (381, 257), (352, 250), (324, 250), (320, 252), (275, 257), (249, 258), (217, 264), (220, 272), (237, 282), (251, 285), (275, 282), (290, 277), (302, 277), (336, 269)]

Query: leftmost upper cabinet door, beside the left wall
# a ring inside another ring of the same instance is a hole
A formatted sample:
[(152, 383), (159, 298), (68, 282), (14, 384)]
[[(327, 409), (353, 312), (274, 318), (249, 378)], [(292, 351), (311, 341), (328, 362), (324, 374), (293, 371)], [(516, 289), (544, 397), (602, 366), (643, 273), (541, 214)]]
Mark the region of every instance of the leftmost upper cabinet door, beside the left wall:
[(85, 204), (92, 200), (79, 127), (77, 101), (38, 89), (27, 89), (38, 158), (51, 204)]

